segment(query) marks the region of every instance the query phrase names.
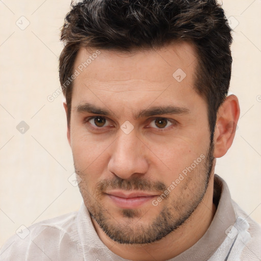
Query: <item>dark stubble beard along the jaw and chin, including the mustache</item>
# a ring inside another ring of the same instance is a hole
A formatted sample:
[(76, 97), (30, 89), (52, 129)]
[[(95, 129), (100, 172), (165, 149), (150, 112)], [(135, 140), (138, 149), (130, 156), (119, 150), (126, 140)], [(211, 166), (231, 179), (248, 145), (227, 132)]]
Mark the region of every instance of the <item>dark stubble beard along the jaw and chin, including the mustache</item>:
[[(208, 148), (205, 161), (200, 163), (202, 166), (199, 167), (200, 169), (196, 175), (197, 177), (194, 177), (194, 179), (200, 179), (198, 182), (199, 187), (196, 193), (194, 190), (189, 188), (189, 181), (187, 182), (187, 185), (184, 183), (184, 188), (187, 190), (187, 193), (182, 193), (182, 195), (172, 199), (171, 203), (164, 207), (159, 215), (154, 218), (150, 224), (144, 225), (144, 222), (141, 222), (142, 218), (145, 218), (146, 213), (143, 214), (139, 209), (121, 210), (120, 214), (122, 219), (117, 221), (113, 215), (110, 214), (110, 210), (106, 209), (105, 206), (102, 206), (99, 203), (99, 199), (101, 198), (102, 191), (108, 187), (112, 189), (123, 189), (126, 191), (150, 191), (152, 188), (153, 190), (164, 191), (167, 187), (161, 182), (153, 184), (150, 181), (140, 178), (126, 180), (115, 177), (113, 180), (105, 180), (100, 182), (95, 189), (95, 196), (91, 196), (86, 190), (85, 186), (87, 184), (84, 186), (84, 182), (81, 182), (79, 184), (79, 188), (83, 196), (84, 203), (89, 210), (91, 217), (113, 241), (120, 244), (149, 244), (159, 241), (166, 237), (167, 234), (175, 231), (182, 224), (184, 224), (204, 198), (210, 182), (211, 173), (213, 172), (213, 148), (214, 146), (212, 142)], [(195, 169), (193, 172), (194, 171), (197, 170)], [(76, 169), (75, 172), (81, 175), (81, 173), (79, 173)], [(189, 175), (196, 174), (193, 172), (188, 174), (186, 177), (188, 180), (192, 180), (193, 178), (192, 176), (189, 177)], [(182, 180), (181, 182), (184, 181), (185, 180)], [(174, 191), (171, 193), (175, 193)], [(122, 220), (124, 220), (124, 222), (122, 222)]]

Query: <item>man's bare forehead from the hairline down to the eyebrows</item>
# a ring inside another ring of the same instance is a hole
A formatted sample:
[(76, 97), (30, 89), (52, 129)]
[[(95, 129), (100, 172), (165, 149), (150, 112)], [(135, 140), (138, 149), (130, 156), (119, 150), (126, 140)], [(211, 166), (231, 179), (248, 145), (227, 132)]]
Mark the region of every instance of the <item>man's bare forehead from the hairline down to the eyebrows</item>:
[(74, 63), (78, 75), (73, 81), (72, 106), (90, 101), (91, 96), (97, 101), (138, 105), (139, 99), (149, 104), (159, 96), (154, 103), (163, 98), (171, 103), (173, 97), (178, 101), (189, 93), (197, 95), (196, 64), (195, 47), (188, 42), (131, 53), (81, 48)]

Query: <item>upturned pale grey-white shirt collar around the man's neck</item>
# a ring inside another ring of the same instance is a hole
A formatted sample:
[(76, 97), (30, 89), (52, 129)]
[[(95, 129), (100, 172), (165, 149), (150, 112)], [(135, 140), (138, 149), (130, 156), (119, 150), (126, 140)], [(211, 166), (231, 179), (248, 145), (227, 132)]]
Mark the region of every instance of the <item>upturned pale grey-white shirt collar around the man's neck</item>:
[[(226, 182), (215, 174), (214, 177), (214, 202), (218, 202), (217, 211), (210, 227), (203, 237), (192, 247), (182, 252), (169, 261), (202, 261), (210, 258), (225, 240), (225, 230), (236, 222), (237, 215), (232, 205), (231, 196)], [(90, 213), (84, 203), (77, 215), (77, 232), (80, 237), (80, 250), (84, 253), (85, 260), (93, 256), (94, 260), (125, 260), (114, 254), (99, 239), (93, 226)]]

